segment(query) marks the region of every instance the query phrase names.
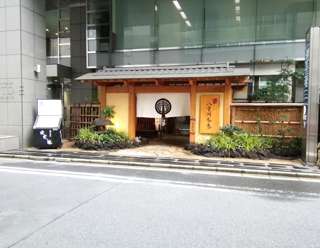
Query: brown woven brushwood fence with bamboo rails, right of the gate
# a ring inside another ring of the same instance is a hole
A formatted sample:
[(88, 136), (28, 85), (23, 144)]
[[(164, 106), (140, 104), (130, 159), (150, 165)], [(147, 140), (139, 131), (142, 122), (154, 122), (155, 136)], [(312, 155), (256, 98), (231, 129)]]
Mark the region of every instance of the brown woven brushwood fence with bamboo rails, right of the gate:
[[(231, 124), (242, 128), (246, 132), (260, 134), (257, 123), (257, 113), (260, 114), (260, 123), (262, 126), (262, 134), (277, 136), (281, 125), (286, 125), (284, 130), (293, 129), (293, 133), (288, 133), (291, 137), (301, 136), (302, 127), (302, 106), (270, 106), (257, 104), (257, 106), (231, 106)], [(276, 116), (287, 116), (284, 118), (276, 118)], [(270, 121), (275, 121), (276, 124), (269, 124)], [(283, 123), (281, 123), (283, 122)]]

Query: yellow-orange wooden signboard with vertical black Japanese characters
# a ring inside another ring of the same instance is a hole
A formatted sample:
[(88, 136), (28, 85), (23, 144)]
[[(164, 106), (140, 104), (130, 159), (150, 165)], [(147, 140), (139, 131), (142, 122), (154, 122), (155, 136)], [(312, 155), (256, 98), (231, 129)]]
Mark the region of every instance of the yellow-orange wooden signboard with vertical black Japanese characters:
[(220, 96), (202, 95), (200, 99), (200, 133), (219, 133)]

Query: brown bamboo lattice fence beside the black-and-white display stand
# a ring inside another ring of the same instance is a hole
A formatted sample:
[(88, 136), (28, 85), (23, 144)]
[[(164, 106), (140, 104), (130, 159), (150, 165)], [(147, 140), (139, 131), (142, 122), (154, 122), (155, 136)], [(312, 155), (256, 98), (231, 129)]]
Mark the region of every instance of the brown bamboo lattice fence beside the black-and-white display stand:
[(94, 119), (100, 116), (100, 104), (75, 104), (70, 105), (70, 130), (71, 137), (77, 135), (79, 128), (88, 127)]

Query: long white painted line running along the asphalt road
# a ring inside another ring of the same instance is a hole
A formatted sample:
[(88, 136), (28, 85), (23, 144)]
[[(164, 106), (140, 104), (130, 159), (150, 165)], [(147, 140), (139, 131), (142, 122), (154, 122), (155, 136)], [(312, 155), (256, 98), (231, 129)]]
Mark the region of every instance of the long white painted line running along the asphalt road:
[(111, 181), (118, 183), (142, 183), (142, 184), (157, 184), (166, 185), (171, 187), (192, 187), (201, 189), (211, 189), (216, 191), (228, 191), (228, 192), (242, 192), (247, 194), (259, 194), (259, 195), (273, 195), (280, 196), (280, 194), (288, 197), (289, 195), (294, 195), (294, 198), (298, 196), (317, 196), (320, 197), (318, 193), (307, 193), (298, 191), (286, 191), (286, 190), (276, 190), (276, 189), (263, 189), (263, 188), (250, 188), (250, 187), (240, 187), (240, 186), (227, 186), (220, 184), (210, 184), (210, 183), (196, 183), (196, 182), (186, 182), (186, 181), (172, 181), (172, 180), (157, 180), (157, 179), (147, 179), (147, 178), (132, 178), (125, 176), (115, 176), (108, 174), (98, 174), (98, 173), (84, 173), (84, 172), (70, 172), (70, 171), (57, 171), (57, 170), (42, 170), (42, 169), (31, 169), (31, 168), (20, 168), (20, 167), (6, 167), (0, 166), (0, 172), (13, 172), (13, 173), (23, 173), (23, 174), (33, 174), (33, 175), (47, 175), (47, 176), (58, 176), (58, 177), (68, 177), (77, 179), (88, 179), (88, 180), (100, 180), (100, 181)]

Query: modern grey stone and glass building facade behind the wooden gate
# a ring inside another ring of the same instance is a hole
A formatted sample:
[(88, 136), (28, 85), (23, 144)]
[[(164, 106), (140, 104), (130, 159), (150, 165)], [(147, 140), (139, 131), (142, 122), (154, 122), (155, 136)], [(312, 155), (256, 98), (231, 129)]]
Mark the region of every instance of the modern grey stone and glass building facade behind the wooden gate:
[[(245, 101), (286, 57), (304, 68), (305, 33), (320, 24), (319, 10), (316, 0), (0, 1), (0, 134), (32, 146), (36, 99), (49, 98), (63, 100), (68, 137), (68, 106), (101, 91), (75, 78), (104, 67), (250, 68), (246, 91), (233, 94)], [(301, 82), (294, 89), (302, 102)]]

